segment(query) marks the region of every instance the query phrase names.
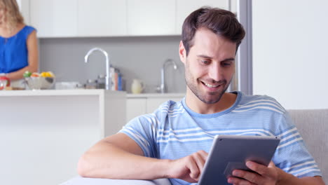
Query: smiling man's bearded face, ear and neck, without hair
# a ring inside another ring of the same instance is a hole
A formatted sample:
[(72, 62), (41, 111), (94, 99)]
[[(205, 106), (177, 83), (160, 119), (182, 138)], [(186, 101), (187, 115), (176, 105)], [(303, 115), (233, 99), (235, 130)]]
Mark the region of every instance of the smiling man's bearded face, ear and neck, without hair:
[[(189, 42), (193, 45), (186, 50)], [(186, 104), (193, 111), (213, 114), (235, 102), (237, 95), (225, 92), (235, 71), (236, 49), (236, 43), (205, 27), (199, 28), (191, 41), (180, 42), (180, 59), (186, 69)]]

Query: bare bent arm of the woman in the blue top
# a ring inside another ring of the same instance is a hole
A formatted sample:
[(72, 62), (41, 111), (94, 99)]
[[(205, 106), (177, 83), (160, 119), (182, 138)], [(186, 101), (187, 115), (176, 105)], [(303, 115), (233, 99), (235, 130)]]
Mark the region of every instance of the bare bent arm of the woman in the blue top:
[(39, 51), (38, 51), (38, 41), (36, 39), (36, 31), (34, 30), (27, 37), (27, 67), (23, 67), (18, 71), (11, 72), (6, 76), (11, 80), (18, 80), (22, 78), (25, 71), (36, 72), (39, 66)]

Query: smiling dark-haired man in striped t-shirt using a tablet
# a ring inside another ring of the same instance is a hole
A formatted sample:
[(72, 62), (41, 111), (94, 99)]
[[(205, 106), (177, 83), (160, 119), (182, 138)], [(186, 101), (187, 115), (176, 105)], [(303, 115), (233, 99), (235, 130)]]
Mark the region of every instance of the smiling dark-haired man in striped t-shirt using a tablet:
[(229, 11), (200, 8), (191, 13), (184, 21), (179, 46), (186, 69), (186, 97), (181, 102), (165, 102), (153, 114), (133, 119), (116, 135), (95, 144), (79, 160), (79, 174), (170, 178), (172, 184), (189, 184), (198, 181), (214, 135), (275, 135), (282, 140), (273, 162), (266, 167), (249, 161), (246, 165), (257, 173), (234, 170), (235, 177), (228, 182), (324, 184), (278, 102), (267, 96), (225, 93), (244, 36), (242, 25)]

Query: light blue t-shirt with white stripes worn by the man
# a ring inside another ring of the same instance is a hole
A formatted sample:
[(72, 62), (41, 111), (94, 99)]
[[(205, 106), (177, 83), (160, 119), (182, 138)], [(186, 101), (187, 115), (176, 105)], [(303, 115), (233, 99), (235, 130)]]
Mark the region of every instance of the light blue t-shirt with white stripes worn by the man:
[[(296, 177), (322, 176), (287, 111), (272, 97), (237, 93), (232, 107), (198, 114), (180, 102), (168, 101), (153, 114), (132, 119), (120, 131), (131, 137), (144, 156), (177, 159), (199, 150), (210, 151), (215, 135), (278, 136), (273, 163)], [(170, 179), (173, 185), (190, 184)]]

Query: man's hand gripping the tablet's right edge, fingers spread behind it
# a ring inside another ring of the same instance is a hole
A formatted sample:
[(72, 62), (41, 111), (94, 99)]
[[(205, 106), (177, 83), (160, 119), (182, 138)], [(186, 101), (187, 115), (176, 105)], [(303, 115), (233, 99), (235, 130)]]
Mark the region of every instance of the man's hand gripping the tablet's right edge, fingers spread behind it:
[[(254, 172), (247, 172), (244, 170), (233, 170), (233, 176), (228, 178), (228, 183), (234, 185), (275, 185), (279, 180), (278, 167), (271, 161), (266, 167), (265, 165), (260, 165), (252, 161), (247, 161), (247, 167), (249, 167)], [(240, 177), (240, 178), (235, 178)]]

